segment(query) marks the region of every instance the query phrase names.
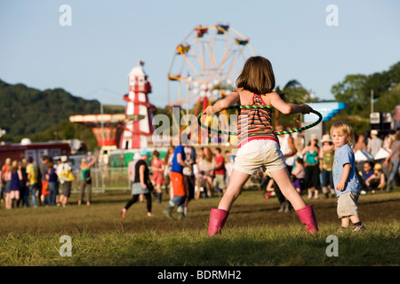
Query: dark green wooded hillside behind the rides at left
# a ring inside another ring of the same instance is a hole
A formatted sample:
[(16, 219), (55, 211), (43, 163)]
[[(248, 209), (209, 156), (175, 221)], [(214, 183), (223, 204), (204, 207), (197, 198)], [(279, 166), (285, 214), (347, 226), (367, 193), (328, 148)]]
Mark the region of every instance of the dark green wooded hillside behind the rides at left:
[[(0, 107), (0, 128), (6, 130), (2, 141), (20, 142), (25, 137), (35, 142), (82, 138), (91, 146), (97, 144), (92, 130), (69, 122), (69, 116), (100, 114), (98, 100), (78, 98), (60, 88), (40, 91), (0, 80)], [(104, 112), (124, 113), (124, 106), (104, 106)]]

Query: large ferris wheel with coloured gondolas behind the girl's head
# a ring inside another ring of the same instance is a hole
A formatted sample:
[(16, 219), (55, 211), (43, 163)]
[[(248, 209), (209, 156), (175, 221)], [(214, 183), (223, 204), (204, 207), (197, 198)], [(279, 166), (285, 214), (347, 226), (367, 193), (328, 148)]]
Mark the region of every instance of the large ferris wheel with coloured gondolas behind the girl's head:
[(235, 89), (244, 62), (254, 56), (248, 37), (229, 24), (197, 26), (177, 46), (168, 73), (168, 105), (198, 114)]

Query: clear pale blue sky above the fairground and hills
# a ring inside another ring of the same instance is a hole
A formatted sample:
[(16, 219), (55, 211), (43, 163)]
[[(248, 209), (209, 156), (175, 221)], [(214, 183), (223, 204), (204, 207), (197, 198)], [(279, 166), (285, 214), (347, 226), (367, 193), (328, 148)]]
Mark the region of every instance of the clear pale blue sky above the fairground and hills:
[[(72, 9), (70, 27), (60, 26), (61, 4)], [(339, 26), (325, 22), (329, 4), (338, 7)], [(141, 59), (150, 102), (165, 106), (176, 46), (196, 26), (218, 22), (271, 60), (277, 85), (296, 79), (320, 99), (333, 99), (332, 85), (346, 75), (400, 60), (396, 0), (2, 0), (0, 79), (124, 106), (127, 75)]]

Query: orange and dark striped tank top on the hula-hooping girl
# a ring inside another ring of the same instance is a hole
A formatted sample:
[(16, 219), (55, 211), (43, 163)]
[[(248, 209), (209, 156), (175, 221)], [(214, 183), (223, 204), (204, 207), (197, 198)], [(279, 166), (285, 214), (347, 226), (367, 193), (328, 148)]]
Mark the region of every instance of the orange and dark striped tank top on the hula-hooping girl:
[[(252, 105), (266, 106), (260, 95), (252, 96)], [(272, 127), (272, 109), (250, 108), (239, 109), (239, 120), (237, 123), (237, 139), (240, 148), (247, 142), (256, 139), (270, 139), (279, 144), (276, 131)]]

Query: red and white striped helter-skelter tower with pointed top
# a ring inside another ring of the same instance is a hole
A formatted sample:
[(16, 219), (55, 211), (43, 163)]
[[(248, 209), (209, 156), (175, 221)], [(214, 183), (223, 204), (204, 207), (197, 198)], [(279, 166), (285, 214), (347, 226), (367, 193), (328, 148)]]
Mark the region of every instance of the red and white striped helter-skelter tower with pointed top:
[(137, 67), (133, 67), (128, 75), (129, 93), (124, 95), (127, 102), (125, 114), (142, 115), (140, 120), (126, 122), (120, 139), (120, 149), (142, 149), (148, 147), (148, 139), (153, 134), (153, 115), (156, 106), (148, 102), (148, 93), (151, 92), (151, 83), (148, 75), (143, 71), (144, 63), (139, 60)]

